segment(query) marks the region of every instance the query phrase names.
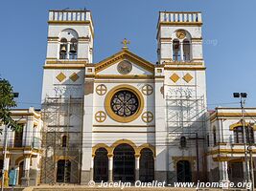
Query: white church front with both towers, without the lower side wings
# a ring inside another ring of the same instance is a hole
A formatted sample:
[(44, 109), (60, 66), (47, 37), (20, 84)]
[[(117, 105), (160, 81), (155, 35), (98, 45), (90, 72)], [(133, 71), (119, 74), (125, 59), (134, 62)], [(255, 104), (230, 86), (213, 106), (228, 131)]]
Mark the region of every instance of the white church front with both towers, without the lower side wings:
[(50, 11), (48, 23), (42, 182), (202, 179), (201, 13), (159, 13), (157, 63), (132, 53), (127, 39), (94, 63), (90, 11)]

